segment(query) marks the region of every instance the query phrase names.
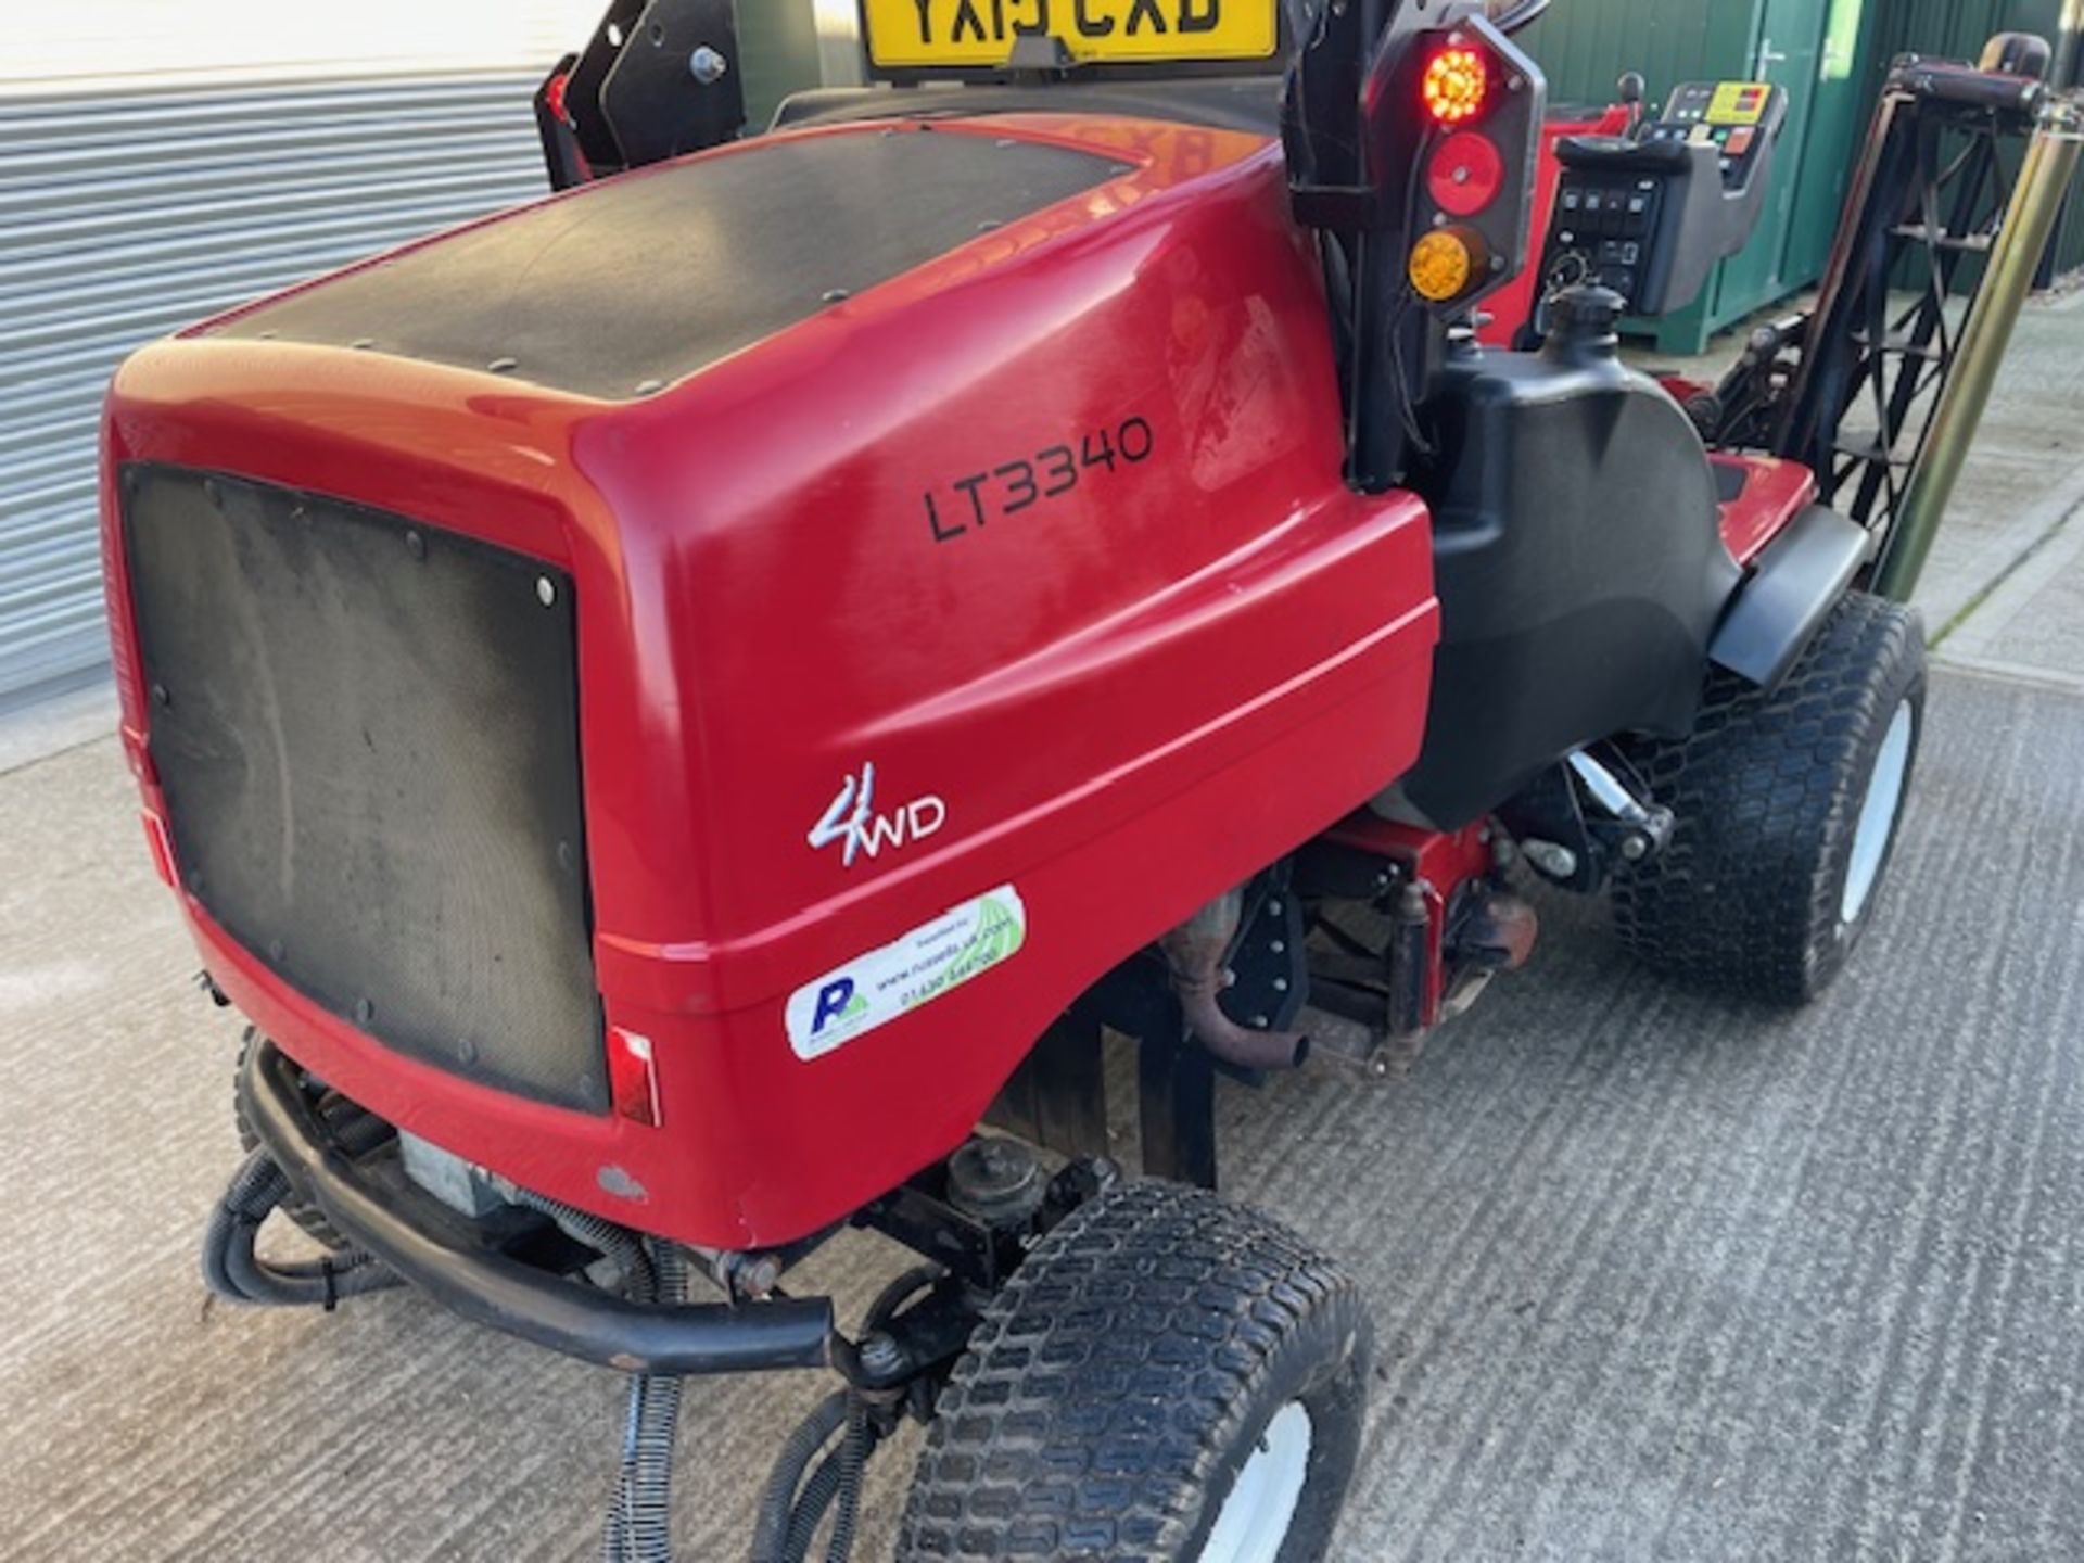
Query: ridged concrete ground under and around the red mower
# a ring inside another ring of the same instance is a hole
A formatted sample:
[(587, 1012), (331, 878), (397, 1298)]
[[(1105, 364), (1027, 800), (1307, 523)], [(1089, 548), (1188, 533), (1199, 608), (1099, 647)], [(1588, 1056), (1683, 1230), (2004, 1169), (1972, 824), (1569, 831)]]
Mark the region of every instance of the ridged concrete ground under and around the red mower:
[[(1934, 563), (1894, 877), (1821, 1004), (1659, 984), (1550, 898), (1409, 1075), (1225, 1088), (1230, 1190), (1375, 1309), (1344, 1563), (2084, 1557), (2080, 377), (2084, 308), (2036, 306)], [(588, 1557), (613, 1375), (411, 1294), (206, 1302), (238, 1023), (106, 719), (0, 729), (0, 1557)], [(859, 1309), (892, 1265), (850, 1236), (804, 1280)], [(823, 1388), (692, 1388), (684, 1557), (742, 1555)]]

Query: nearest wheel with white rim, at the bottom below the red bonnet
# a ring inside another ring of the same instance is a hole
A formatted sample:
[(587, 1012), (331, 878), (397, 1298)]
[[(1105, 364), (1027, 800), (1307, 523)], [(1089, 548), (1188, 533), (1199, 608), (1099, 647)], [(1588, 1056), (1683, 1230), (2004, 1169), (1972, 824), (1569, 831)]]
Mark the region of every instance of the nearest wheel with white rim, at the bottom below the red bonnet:
[(1200, 1190), (1105, 1194), (971, 1336), (898, 1559), (1321, 1559), (1367, 1363), (1359, 1288), (1300, 1238)]

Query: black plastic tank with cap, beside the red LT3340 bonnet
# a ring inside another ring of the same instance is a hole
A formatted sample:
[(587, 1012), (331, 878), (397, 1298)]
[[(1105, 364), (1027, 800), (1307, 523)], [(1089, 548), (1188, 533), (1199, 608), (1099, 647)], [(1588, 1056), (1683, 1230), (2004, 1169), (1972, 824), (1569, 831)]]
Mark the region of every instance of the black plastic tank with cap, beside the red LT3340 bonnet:
[(1621, 300), (1557, 304), (1540, 352), (1450, 350), (1425, 404), (1442, 646), (1403, 800), (1453, 829), (1582, 744), (1682, 736), (1738, 586), (1701, 436), (1619, 361)]

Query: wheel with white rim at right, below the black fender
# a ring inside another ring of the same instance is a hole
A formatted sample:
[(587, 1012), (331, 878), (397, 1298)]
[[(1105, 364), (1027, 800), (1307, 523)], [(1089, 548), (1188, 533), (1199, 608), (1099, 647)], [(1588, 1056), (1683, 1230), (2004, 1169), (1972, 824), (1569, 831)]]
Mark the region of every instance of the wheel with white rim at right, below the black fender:
[(1615, 882), (1621, 940), (1715, 988), (1821, 994), (1874, 919), (1924, 709), (1917, 613), (1861, 592), (1771, 694), (1715, 673), (1690, 738), (1630, 746), (1676, 827)]

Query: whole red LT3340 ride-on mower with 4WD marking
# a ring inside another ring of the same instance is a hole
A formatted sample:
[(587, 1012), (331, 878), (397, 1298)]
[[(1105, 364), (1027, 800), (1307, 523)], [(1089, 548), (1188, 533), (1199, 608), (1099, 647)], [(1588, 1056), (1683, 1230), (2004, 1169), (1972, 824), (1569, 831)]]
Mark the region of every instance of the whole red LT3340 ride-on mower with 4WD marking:
[[(1321, 1557), (1369, 1317), (1211, 1192), (1215, 1077), (1386, 1073), (1530, 875), (1838, 975), (1961, 240), (2009, 329), (1994, 148), (2069, 113), (2032, 40), (1907, 63), (1819, 304), (1665, 386), (1617, 327), (1746, 242), (1784, 94), (1550, 121), (1544, 6), (867, 0), (884, 79), (738, 140), (729, 6), (617, 0), (561, 194), (131, 358), (123, 734), (252, 1025), (210, 1284), (629, 1373), (611, 1559), (669, 1557), (679, 1380), (763, 1369), (836, 1390), (756, 1559), (846, 1557), (904, 1417), (902, 1559)], [(1940, 131), (1988, 177), (1919, 235)], [(919, 1267), (842, 1328), (788, 1271), (848, 1225)]]

